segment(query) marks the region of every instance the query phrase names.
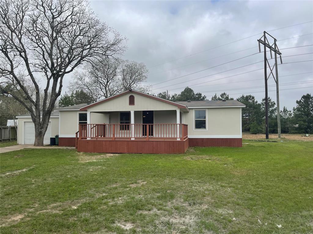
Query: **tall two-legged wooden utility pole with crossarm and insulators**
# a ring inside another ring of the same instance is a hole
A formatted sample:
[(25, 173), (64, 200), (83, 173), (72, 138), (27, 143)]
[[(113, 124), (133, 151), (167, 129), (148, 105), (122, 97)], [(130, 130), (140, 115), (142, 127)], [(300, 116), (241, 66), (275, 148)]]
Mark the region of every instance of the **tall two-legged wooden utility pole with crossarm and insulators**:
[[(271, 37), (274, 39), (274, 42), (272, 44), (269, 43), (267, 36)], [(263, 39), (263, 40), (262, 40)], [(265, 32), (263, 33), (263, 36), (258, 40), (259, 42), (259, 52), (261, 52), (261, 45), (264, 45), (264, 82), (265, 82), (265, 138), (269, 139), (269, 105), (268, 105), (268, 90), (267, 90), (267, 81), (269, 77), (272, 75), (275, 82), (276, 82), (276, 99), (277, 99), (277, 128), (278, 128), (278, 138), (281, 137), (280, 135), (280, 108), (279, 108), (279, 83), (278, 83), (278, 68), (277, 68), (277, 54), (280, 55), (280, 63), (282, 62), (281, 59), (281, 52), (278, 49), (278, 46), (276, 44), (276, 38), (272, 37), (269, 35), (269, 33)], [(274, 46), (274, 47), (273, 47)], [(269, 65), (269, 61), (266, 57), (266, 48), (269, 48), (269, 52), (272, 56), (272, 51), (275, 53), (275, 63), (272, 66)], [(269, 66), (270, 73), (267, 75), (267, 66)], [(275, 67), (275, 76), (273, 74), (273, 70)]]

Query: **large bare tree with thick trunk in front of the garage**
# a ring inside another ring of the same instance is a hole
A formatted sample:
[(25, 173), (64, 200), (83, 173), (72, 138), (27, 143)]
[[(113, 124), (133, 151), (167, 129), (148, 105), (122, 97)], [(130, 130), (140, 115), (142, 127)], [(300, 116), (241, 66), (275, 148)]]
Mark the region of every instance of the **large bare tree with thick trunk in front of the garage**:
[[(30, 112), (34, 145), (43, 145), (64, 75), (83, 62), (121, 54), (124, 39), (100, 22), (84, 0), (0, 1), (0, 87)], [(7, 90), (8, 85), (21, 95)]]

